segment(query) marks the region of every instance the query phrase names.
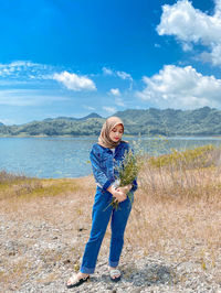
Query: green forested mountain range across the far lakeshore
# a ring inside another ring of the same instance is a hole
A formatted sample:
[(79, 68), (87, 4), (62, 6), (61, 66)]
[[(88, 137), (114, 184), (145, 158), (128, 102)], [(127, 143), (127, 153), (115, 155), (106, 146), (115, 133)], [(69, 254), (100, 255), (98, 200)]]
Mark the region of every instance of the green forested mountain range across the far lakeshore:
[[(123, 119), (130, 135), (221, 135), (221, 110), (127, 109), (112, 116)], [(92, 112), (83, 118), (57, 117), (20, 126), (0, 123), (1, 137), (98, 135), (106, 118)]]

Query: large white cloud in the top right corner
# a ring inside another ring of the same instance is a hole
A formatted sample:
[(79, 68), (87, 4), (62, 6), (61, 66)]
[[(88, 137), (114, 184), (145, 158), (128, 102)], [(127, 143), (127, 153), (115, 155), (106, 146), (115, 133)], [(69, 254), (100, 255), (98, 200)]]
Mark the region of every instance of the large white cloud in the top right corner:
[(209, 48), (201, 57), (213, 65), (221, 64), (221, 0), (215, 0), (213, 15), (194, 9), (188, 0), (180, 0), (173, 6), (165, 4), (160, 23), (157, 26), (159, 35), (175, 35), (185, 51), (190, 51), (192, 44), (201, 44)]

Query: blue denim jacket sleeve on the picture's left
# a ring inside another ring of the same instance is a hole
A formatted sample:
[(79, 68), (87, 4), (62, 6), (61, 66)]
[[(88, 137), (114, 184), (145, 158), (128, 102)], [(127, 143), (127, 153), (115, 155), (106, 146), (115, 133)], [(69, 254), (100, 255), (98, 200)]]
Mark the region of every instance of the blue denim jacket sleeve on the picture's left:
[(98, 159), (94, 148), (90, 153), (90, 160), (92, 162), (92, 170), (95, 177), (95, 182), (102, 186), (103, 191), (106, 191), (113, 183), (114, 180), (108, 180), (106, 174), (102, 171), (101, 159)]

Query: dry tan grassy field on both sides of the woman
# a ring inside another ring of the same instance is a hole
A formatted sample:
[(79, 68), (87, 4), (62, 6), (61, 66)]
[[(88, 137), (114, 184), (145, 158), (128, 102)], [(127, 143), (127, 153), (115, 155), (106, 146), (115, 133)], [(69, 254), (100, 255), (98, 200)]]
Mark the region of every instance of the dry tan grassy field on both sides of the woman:
[[(209, 145), (144, 160), (125, 246), (135, 259), (140, 250), (146, 256), (160, 254), (171, 261), (200, 263), (203, 270), (215, 269), (213, 278), (221, 282), (221, 150)], [(39, 180), (0, 172), (0, 215), (17, 224), (8, 237), (22, 238), (25, 223), (42, 220), (66, 227), (63, 237), (67, 242), (85, 230), (84, 239), (70, 246), (70, 258), (73, 251), (81, 256), (90, 234), (95, 188), (92, 175)], [(105, 243), (109, 234), (108, 228)], [(52, 259), (63, 257), (46, 253)], [(6, 270), (0, 271), (0, 280), (27, 278), (29, 260), (18, 262), (11, 271), (8, 256), (2, 256)]]

